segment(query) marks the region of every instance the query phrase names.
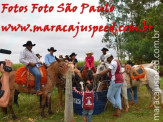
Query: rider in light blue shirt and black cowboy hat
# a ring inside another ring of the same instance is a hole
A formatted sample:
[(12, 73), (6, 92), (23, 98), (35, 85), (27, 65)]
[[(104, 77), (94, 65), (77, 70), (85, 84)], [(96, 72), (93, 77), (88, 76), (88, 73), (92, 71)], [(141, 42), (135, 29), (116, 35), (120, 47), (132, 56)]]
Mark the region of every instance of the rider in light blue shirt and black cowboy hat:
[(56, 62), (58, 60), (54, 56), (54, 52), (57, 51), (57, 50), (54, 49), (54, 47), (51, 47), (50, 49), (48, 49), (48, 51), (50, 52), (50, 54), (47, 54), (45, 56), (45, 64), (46, 64), (46, 66), (49, 66), (51, 63)]

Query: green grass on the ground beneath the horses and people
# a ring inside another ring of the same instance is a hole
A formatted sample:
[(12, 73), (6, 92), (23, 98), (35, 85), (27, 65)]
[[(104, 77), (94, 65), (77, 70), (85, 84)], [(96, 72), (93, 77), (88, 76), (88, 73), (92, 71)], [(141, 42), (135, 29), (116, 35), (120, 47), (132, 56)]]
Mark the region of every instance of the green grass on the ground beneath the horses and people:
[[(14, 66), (16, 69), (19, 66)], [(163, 89), (163, 77), (160, 80), (161, 88)], [(41, 109), (39, 108), (39, 97), (36, 95), (27, 95), (21, 93), (19, 95), (19, 107), (13, 105), (14, 111), (18, 116), (18, 120), (14, 122), (63, 122), (64, 118), (64, 107), (59, 107), (58, 104), (58, 93), (57, 88), (52, 93), (52, 111), (53, 115), (48, 115), (47, 109), (45, 114), (47, 119), (42, 119), (40, 116)], [(64, 103), (64, 101), (63, 101)], [(140, 87), (138, 92), (138, 104), (137, 106), (130, 106), (128, 113), (122, 112), (121, 118), (112, 117), (114, 109), (109, 103), (106, 111), (99, 115), (94, 115), (92, 122), (153, 122), (154, 121), (154, 109), (150, 109), (151, 97), (145, 86)], [(8, 110), (9, 111), (9, 110)], [(159, 121), (163, 122), (163, 108), (160, 105)], [(74, 115), (76, 122), (82, 122), (80, 115)], [(106, 120), (106, 121), (105, 121)], [(8, 115), (3, 115), (0, 112), (0, 122), (12, 122), (10, 112)]]

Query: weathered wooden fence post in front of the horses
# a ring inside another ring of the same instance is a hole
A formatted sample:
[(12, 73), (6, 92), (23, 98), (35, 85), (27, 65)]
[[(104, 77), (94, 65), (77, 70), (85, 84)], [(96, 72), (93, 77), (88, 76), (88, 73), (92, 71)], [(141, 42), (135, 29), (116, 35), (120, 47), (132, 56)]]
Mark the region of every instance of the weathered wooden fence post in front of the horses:
[(66, 94), (64, 121), (74, 122), (73, 96), (72, 96), (72, 68), (70, 67), (66, 74)]

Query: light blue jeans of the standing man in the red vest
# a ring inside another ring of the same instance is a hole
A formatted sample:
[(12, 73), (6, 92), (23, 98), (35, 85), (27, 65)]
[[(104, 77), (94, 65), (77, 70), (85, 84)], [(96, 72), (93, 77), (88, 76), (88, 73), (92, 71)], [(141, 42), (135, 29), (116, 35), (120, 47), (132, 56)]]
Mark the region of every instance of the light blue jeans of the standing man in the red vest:
[(122, 110), (121, 104), (121, 89), (123, 83), (110, 82), (110, 86), (107, 93), (108, 100), (113, 104), (114, 108)]

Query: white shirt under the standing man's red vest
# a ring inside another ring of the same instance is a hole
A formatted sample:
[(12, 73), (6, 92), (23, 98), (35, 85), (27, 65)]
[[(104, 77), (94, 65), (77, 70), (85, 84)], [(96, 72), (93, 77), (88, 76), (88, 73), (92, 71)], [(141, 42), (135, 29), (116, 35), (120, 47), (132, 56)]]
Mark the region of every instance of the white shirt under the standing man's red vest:
[(117, 67), (118, 67), (118, 64), (115, 61), (115, 59), (113, 59), (109, 65), (109, 69), (111, 69), (111, 74), (112, 74), (112, 78), (111, 78), (112, 81), (115, 81), (115, 72), (117, 70)]

